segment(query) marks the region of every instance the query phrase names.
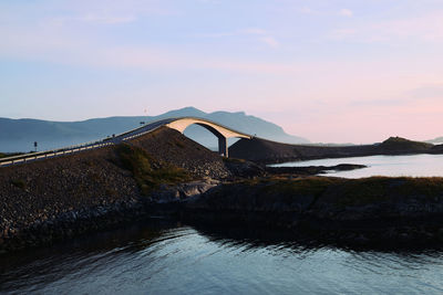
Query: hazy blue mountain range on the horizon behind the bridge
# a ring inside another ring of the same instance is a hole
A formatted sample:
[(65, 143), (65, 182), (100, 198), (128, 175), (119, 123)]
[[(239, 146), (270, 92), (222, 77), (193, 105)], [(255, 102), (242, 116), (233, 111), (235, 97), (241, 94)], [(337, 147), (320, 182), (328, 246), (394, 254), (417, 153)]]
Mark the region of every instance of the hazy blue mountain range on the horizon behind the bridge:
[[(207, 118), (233, 129), (270, 140), (288, 144), (309, 143), (302, 137), (286, 134), (276, 124), (255, 116), (248, 116), (244, 112), (205, 113), (195, 107), (185, 107), (159, 116), (109, 117), (82, 122), (0, 118), (0, 151), (29, 151), (33, 149), (34, 141), (38, 141), (39, 150), (76, 145), (136, 128), (141, 122), (150, 123), (167, 117), (184, 116)], [(214, 135), (200, 126), (189, 126), (185, 130), (185, 135), (207, 147), (217, 146), (217, 139)], [(235, 141), (235, 139), (229, 139), (229, 144)]]

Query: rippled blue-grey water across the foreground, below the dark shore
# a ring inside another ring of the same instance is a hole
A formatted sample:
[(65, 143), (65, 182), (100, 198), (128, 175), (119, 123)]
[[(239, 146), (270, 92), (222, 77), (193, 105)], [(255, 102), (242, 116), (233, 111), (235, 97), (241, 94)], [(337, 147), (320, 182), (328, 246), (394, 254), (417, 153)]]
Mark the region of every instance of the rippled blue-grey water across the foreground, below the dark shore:
[(145, 221), (0, 256), (0, 293), (14, 294), (442, 294), (443, 252), (308, 247)]

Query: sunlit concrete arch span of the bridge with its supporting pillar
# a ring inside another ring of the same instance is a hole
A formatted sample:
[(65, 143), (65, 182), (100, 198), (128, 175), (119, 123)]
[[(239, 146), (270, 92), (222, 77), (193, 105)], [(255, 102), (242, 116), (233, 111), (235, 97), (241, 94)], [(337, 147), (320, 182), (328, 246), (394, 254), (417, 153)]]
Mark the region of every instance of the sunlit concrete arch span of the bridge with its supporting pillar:
[(250, 135), (233, 130), (220, 124), (202, 118), (193, 118), (193, 117), (175, 118), (172, 119), (169, 123), (167, 123), (166, 126), (183, 134), (185, 129), (193, 124), (206, 128), (218, 138), (218, 152), (225, 157), (228, 157), (228, 138), (231, 137), (248, 138), (248, 139), (251, 138)]

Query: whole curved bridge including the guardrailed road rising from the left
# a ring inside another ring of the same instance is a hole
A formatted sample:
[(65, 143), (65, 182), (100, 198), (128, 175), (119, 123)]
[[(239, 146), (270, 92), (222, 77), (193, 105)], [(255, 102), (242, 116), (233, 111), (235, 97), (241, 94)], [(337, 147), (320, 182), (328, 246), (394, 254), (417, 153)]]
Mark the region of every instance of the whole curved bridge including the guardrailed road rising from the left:
[(197, 117), (178, 117), (178, 118), (165, 118), (161, 119), (157, 122), (153, 122), (150, 124), (146, 124), (142, 127), (128, 130), (126, 133), (109, 137), (102, 140), (96, 140), (92, 143), (85, 143), (76, 146), (70, 146), (65, 148), (59, 148), (59, 149), (53, 149), (53, 150), (45, 150), (45, 151), (40, 151), (40, 152), (31, 152), (31, 154), (25, 154), (25, 155), (20, 155), (20, 156), (14, 156), (14, 157), (8, 157), (8, 158), (2, 158), (0, 159), (0, 167), (2, 166), (11, 166), (11, 165), (18, 165), (18, 164), (25, 164), (30, 161), (35, 161), (35, 160), (41, 160), (41, 159), (48, 159), (48, 158), (53, 158), (53, 157), (60, 157), (64, 155), (71, 155), (89, 149), (96, 149), (96, 148), (102, 148), (111, 145), (117, 145), (123, 141), (131, 140), (133, 138), (143, 136), (145, 134), (152, 133), (163, 126), (166, 126), (168, 128), (175, 129), (179, 133), (184, 133), (185, 129), (193, 125), (199, 125), (207, 130), (209, 130), (212, 134), (214, 134), (218, 138), (218, 152), (222, 156), (228, 157), (228, 138), (236, 137), (236, 138), (248, 138), (250, 139), (251, 136), (245, 133), (236, 131), (229, 127), (226, 127), (222, 124), (204, 119), (204, 118), (197, 118)]

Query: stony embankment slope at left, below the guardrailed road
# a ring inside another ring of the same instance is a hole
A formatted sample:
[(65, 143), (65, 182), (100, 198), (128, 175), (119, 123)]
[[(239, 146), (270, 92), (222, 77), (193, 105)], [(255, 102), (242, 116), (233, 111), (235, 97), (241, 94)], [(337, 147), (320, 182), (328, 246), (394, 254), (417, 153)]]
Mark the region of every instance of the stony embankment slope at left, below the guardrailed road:
[(166, 127), (120, 146), (2, 167), (0, 252), (143, 217), (159, 200), (181, 200), (233, 178), (230, 169), (247, 175), (259, 168), (225, 161)]

